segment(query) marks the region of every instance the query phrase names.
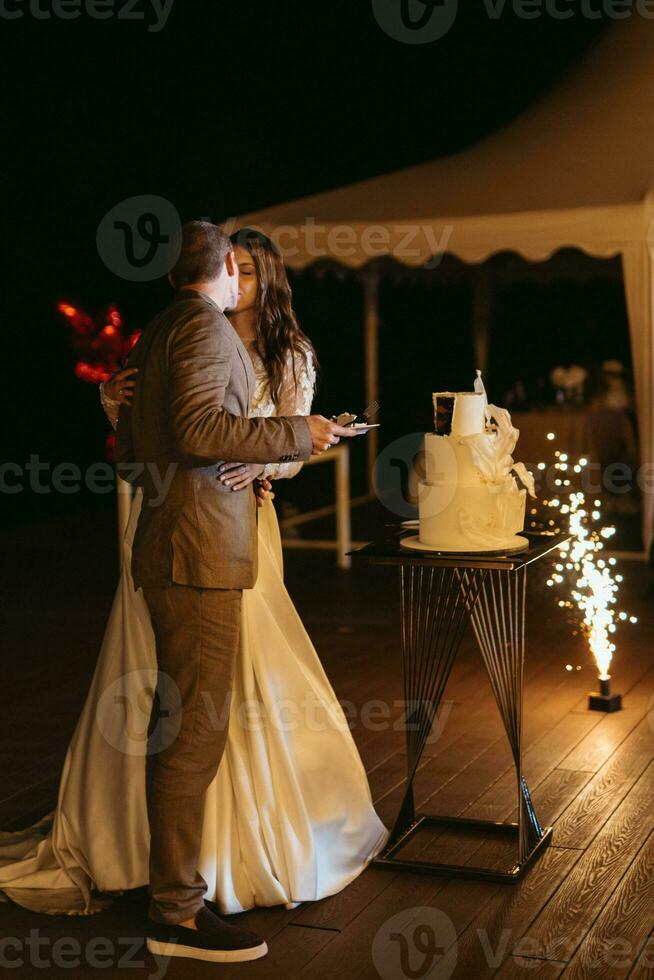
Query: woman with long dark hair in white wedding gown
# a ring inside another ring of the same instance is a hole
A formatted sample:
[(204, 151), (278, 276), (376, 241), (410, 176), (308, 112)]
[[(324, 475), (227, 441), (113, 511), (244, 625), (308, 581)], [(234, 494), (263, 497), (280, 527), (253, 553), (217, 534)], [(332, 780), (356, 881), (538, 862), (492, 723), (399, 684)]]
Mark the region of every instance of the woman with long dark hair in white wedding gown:
[[(239, 302), (230, 318), (256, 372), (251, 415), (308, 415), (315, 358), (295, 318), (281, 256), (249, 229), (233, 242)], [(114, 425), (119, 402), (129, 402), (138, 384), (130, 373), (101, 391)], [(301, 465), (269, 464), (263, 477), (289, 479)], [(235, 492), (254, 492), (245, 488), (259, 472), (228, 464), (221, 478)], [(199, 866), (206, 897), (227, 914), (333, 895), (388, 838), (347, 720), (284, 586), (272, 499), (261, 487), (259, 497), (259, 575), (243, 592), (228, 736), (206, 794)], [(91, 914), (110, 904), (110, 893), (148, 883), (147, 757), (171, 733), (165, 719), (153, 727), (155, 641), (130, 573), (140, 504), (137, 491), (56, 809), (27, 830), (0, 833), (0, 900), (4, 893), (34, 911)], [(217, 724), (221, 708), (210, 706)]]

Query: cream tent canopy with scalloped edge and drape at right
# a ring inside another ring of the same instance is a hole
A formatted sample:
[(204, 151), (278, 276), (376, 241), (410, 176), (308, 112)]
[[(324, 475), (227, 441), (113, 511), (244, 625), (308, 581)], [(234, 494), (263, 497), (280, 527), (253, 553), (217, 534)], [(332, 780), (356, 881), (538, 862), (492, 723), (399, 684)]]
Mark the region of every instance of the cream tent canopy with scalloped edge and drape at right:
[[(633, 14), (603, 36), (547, 98), (446, 159), (242, 215), (293, 268), (379, 255), (411, 266), (450, 252), (467, 262), (560, 248), (622, 257), (640, 462), (654, 484), (654, 21)], [(367, 290), (367, 394), (377, 390), (376, 290)], [(370, 445), (371, 451), (373, 445)], [(643, 482), (647, 489), (648, 481)], [(654, 492), (644, 494), (649, 547)]]

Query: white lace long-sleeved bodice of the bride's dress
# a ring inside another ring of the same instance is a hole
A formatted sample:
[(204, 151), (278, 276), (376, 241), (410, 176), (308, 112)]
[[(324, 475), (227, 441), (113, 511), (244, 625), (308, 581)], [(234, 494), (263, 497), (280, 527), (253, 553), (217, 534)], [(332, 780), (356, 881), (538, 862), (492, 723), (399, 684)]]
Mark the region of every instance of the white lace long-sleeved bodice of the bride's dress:
[[(252, 343), (246, 343), (245, 348), (254, 365), (257, 381), (250, 405), (250, 417), (271, 418), (279, 415), (309, 415), (316, 387), (316, 368), (311, 352), (307, 352), (306, 364), (303, 357), (295, 356), (295, 376), (293, 374), (293, 355), (289, 352), (279, 405), (275, 406), (270, 395), (270, 381), (263, 361)], [(120, 402), (107, 397), (104, 384), (100, 385), (100, 400), (107, 418), (115, 429), (118, 425)], [(302, 463), (266, 463), (263, 475), (269, 480), (288, 480), (297, 476), (301, 469)]]

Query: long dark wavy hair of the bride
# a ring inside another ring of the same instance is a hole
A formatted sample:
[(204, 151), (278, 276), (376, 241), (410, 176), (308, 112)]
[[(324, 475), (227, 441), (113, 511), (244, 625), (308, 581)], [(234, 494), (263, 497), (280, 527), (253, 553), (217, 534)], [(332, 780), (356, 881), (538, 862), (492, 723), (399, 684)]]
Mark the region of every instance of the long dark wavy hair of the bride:
[(289, 352), (292, 354), (296, 386), (296, 358), (302, 358), (306, 366), (310, 353), (317, 369), (316, 352), (297, 322), (284, 260), (275, 243), (254, 228), (242, 228), (235, 232), (231, 236), (231, 242), (250, 253), (257, 270), (259, 288), (256, 300), (256, 349), (266, 368), (270, 379), (270, 395), (277, 406)]

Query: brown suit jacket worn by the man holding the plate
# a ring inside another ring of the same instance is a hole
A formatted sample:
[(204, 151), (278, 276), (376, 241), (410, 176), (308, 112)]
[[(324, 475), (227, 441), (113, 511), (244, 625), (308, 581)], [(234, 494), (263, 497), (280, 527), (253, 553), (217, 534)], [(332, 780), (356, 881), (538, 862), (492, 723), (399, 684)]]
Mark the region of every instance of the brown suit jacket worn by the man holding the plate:
[(256, 497), (218, 479), (223, 460), (308, 460), (304, 418), (247, 418), (255, 376), (218, 306), (180, 290), (127, 361), (138, 367), (132, 405), (121, 406), (116, 462), (143, 488), (134, 538), (134, 585), (173, 582), (252, 588), (257, 576)]

